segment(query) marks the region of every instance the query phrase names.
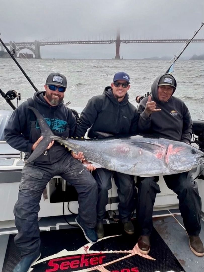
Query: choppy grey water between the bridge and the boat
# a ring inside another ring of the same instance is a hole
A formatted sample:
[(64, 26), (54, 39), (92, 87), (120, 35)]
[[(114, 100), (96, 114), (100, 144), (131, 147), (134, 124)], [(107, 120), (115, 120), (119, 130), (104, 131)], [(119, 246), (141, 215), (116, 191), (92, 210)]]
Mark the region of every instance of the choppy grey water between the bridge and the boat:
[[(18, 59), (24, 71), (38, 90), (44, 89), (47, 76), (60, 72), (67, 77), (64, 102), (84, 107), (94, 95), (102, 94), (110, 86), (113, 75), (124, 71), (129, 74), (131, 88), (129, 101), (136, 107), (135, 97), (150, 91), (154, 79), (168, 69), (172, 61), (164, 60), (70, 60), (70, 59)], [(174, 66), (177, 90), (175, 96), (187, 105), (192, 119), (204, 119), (204, 61), (178, 60)], [(3, 92), (14, 89), (21, 93), (21, 101), (32, 97), (35, 90), (12, 59), (0, 58), (0, 88)], [(13, 100), (17, 106), (16, 100)], [(11, 109), (0, 96), (0, 109)]]

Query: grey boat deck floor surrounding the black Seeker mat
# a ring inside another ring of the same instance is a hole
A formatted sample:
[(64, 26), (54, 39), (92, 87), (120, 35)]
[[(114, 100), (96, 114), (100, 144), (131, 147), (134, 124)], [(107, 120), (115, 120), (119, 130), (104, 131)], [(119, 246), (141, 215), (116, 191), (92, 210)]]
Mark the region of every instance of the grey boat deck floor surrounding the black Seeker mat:
[[(66, 217), (69, 222), (75, 221), (75, 215)], [(107, 223), (114, 223), (112, 220)], [(104, 223), (106, 223), (104, 222)], [(13, 225), (14, 222), (11, 222)], [(183, 227), (183, 219), (179, 214), (179, 209), (169, 209), (153, 212), (153, 225), (162, 239), (174, 253), (186, 272), (204, 271), (204, 257), (197, 257), (189, 248), (189, 239)], [(201, 221), (202, 230), (200, 238), (204, 242), (204, 221)], [(39, 220), (41, 230), (55, 230), (61, 228), (71, 228), (64, 220), (63, 216), (41, 218)], [(1, 228), (0, 231), (13, 233), (15, 227)], [(0, 272), (4, 262), (9, 234), (0, 235)]]

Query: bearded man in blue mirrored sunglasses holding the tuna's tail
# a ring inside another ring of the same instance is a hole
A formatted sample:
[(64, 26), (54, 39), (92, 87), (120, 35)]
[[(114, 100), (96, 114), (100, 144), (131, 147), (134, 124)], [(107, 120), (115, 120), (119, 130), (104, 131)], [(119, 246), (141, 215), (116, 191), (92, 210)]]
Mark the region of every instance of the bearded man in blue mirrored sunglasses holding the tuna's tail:
[[(67, 88), (66, 77), (60, 73), (51, 73), (44, 87), (45, 91), (36, 92), (33, 99), (29, 98), (14, 110), (5, 128), (7, 143), (25, 152), (26, 158), (43, 141), (38, 120), (28, 106), (35, 107), (44, 116), (55, 135), (71, 137), (75, 130), (76, 118), (63, 101)], [(91, 173), (79, 160), (72, 157), (68, 149), (52, 141), (37, 159), (26, 163), (22, 170), (18, 200), (14, 207), (15, 224), (18, 229), (14, 241), (20, 249), (22, 259), (13, 272), (27, 272), (41, 255), (38, 227), (39, 202), (47, 183), (57, 175), (76, 188), (79, 203), (76, 222), (89, 242), (97, 242), (94, 229), (97, 184)]]

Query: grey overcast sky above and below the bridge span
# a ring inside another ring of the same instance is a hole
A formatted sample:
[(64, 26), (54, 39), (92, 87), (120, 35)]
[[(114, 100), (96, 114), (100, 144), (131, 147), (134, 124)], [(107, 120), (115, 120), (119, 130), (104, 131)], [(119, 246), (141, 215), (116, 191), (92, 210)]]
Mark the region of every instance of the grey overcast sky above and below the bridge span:
[[(4, 42), (34, 40), (183, 39), (204, 23), (204, 0), (1, 0)], [(204, 39), (204, 26), (196, 35)], [(184, 44), (121, 44), (120, 57), (173, 57)], [(115, 44), (47, 45), (42, 58), (114, 58)], [(29, 52), (24, 50), (23, 52)], [(204, 54), (191, 43), (183, 57)], [(178, 54), (177, 54), (178, 55)]]

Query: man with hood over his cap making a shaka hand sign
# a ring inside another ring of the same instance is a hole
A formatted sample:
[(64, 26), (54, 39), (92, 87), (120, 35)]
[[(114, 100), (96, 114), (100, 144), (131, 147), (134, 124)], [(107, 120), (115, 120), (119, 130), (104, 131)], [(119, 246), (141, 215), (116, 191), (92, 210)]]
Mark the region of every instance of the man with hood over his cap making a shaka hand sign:
[[(140, 133), (168, 138), (191, 144), (192, 120), (184, 102), (173, 96), (177, 83), (172, 75), (159, 76), (152, 84), (152, 95), (143, 98), (139, 104)], [(200, 240), (201, 198), (197, 183), (191, 172), (163, 176), (166, 185), (178, 195), (179, 209), (190, 240), (190, 249), (197, 256), (203, 256)], [(150, 251), (152, 214), (156, 194), (160, 193), (157, 184), (159, 177), (137, 177), (138, 200), (137, 221), (140, 228), (138, 247), (141, 253)]]

